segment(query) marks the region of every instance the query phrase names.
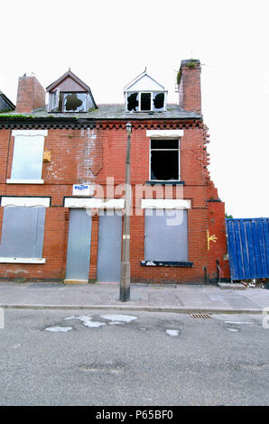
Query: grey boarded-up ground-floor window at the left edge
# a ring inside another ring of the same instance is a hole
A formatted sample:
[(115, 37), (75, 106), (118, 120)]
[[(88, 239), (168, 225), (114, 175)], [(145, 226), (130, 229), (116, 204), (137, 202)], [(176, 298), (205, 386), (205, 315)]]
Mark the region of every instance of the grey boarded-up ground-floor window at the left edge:
[(5, 207), (0, 256), (42, 258), (45, 207)]

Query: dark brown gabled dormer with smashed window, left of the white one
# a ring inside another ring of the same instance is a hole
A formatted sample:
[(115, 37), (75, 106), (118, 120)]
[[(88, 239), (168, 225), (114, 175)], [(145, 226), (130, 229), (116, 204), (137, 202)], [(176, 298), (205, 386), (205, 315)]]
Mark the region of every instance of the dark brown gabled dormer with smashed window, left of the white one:
[(96, 109), (90, 88), (70, 70), (47, 88), (49, 112), (88, 112)]

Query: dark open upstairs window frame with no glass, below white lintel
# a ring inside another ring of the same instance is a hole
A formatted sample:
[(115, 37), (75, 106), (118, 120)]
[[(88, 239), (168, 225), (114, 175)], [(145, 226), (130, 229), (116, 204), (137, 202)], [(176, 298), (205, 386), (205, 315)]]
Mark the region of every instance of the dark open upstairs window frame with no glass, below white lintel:
[(180, 180), (179, 140), (151, 140), (151, 180)]

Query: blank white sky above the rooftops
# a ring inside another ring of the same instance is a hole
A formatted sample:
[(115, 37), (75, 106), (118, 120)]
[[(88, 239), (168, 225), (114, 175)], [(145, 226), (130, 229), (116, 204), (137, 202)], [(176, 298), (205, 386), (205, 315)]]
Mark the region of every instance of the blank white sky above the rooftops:
[(147, 67), (177, 102), (181, 60), (202, 63), (211, 178), (234, 217), (269, 217), (269, 25), (266, 0), (14, 0), (2, 2), (0, 90), (46, 88), (69, 67), (98, 103), (123, 103)]

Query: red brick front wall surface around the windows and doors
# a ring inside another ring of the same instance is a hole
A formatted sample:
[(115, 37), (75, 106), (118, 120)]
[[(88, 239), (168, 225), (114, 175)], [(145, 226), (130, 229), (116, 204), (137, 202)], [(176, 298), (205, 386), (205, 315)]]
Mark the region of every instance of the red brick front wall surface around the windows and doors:
[[(102, 126), (101, 126), (102, 125)], [(135, 184), (149, 180), (149, 138), (146, 130), (156, 123), (133, 123), (131, 137), (131, 181), (135, 195)], [(165, 125), (165, 126), (164, 126)], [(177, 128), (179, 124), (159, 124), (160, 129)], [(189, 261), (192, 268), (143, 267), (144, 260), (144, 211), (135, 204), (131, 217), (131, 278), (132, 281), (203, 281), (204, 267), (210, 276), (216, 273), (216, 260), (227, 274), (224, 229), (224, 204), (209, 202), (216, 189), (209, 183), (204, 172), (201, 150), (204, 148), (202, 124), (181, 124), (181, 180), (185, 182), (183, 197), (191, 200), (188, 210)], [(46, 208), (43, 254), (45, 264), (0, 264), (1, 278), (27, 278), (61, 280), (65, 276), (66, 253), (69, 228), (69, 209), (63, 207), (64, 197), (72, 196), (72, 185), (78, 182), (97, 183), (107, 196), (107, 177), (114, 178), (115, 186), (125, 181), (125, 123), (97, 124), (95, 129), (50, 129), (45, 137), (44, 148), (51, 152), (51, 162), (42, 167), (43, 185), (5, 184), (10, 178), (14, 137), (11, 130), (0, 131), (1, 165), (0, 189), (6, 196), (51, 196), (51, 207)], [(213, 194), (212, 194), (213, 193)], [(118, 190), (114, 197), (124, 193)], [(145, 197), (145, 194), (144, 194)], [(172, 198), (176, 187), (172, 188)], [(136, 212), (140, 212), (137, 216)], [(0, 207), (2, 214), (3, 207)], [(0, 219), (2, 215), (0, 214)], [(1, 223), (0, 223), (1, 225)], [(98, 217), (93, 218), (91, 234), (91, 259), (89, 279), (95, 280), (97, 272), (97, 228)], [(218, 236), (218, 243), (207, 248), (207, 230)]]

